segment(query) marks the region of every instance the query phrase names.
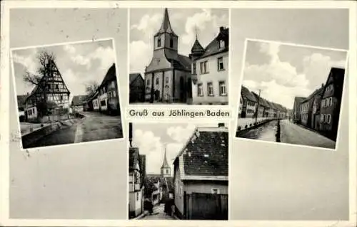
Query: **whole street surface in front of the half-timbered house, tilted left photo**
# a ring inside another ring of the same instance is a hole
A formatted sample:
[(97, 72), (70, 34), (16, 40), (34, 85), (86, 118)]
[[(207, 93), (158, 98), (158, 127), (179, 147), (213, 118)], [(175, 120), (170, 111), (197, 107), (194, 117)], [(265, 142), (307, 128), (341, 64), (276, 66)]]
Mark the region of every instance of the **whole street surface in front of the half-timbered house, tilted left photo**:
[(109, 116), (100, 112), (84, 112), (82, 120), (61, 130), (57, 130), (30, 147), (45, 147), (60, 144), (89, 142), (102, 139), (123, 138), (119, 116)]

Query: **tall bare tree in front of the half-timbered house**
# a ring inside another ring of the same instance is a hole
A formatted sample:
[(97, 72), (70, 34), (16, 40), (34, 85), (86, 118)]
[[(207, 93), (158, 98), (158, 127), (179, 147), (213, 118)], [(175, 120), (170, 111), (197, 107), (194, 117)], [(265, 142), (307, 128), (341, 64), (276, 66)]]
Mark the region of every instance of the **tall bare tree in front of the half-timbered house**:
[(39, 112), (41, 112), (41, 115), (49, 116), (49, 107), (47, 106), (46, 99), (46, 95), (49, 91), (47, 90), (46, 85), (47, 80), (49, 79), (48, 76), (52, 75), (53, 71), (55, 70), (56, 56), (54, 55), (54, 53), (49, 53), (46, 50), (41, 50), (36, 56), (36, 58), (39, 61), (39, 68), (36, 74), (30, 73), (28, 70), (26, 70), (23, 80), (25, 83), (35, 85), (37, 89), (39, 89), (38, 92), (43, 95), (43, 97), (41, 97), (41, 102), (43, 104), (41, 107), (39, 107)]

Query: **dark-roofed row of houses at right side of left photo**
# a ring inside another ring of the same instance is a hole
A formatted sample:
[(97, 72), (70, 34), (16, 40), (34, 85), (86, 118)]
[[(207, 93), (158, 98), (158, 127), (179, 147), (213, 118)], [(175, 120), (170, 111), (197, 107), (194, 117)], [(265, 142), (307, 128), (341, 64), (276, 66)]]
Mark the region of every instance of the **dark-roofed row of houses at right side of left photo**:
[(115, 64), (111, 65), (94, 95), (87, 100), (84, 109), (88, 111), (97, 110), (109, 115), (120, 115)]

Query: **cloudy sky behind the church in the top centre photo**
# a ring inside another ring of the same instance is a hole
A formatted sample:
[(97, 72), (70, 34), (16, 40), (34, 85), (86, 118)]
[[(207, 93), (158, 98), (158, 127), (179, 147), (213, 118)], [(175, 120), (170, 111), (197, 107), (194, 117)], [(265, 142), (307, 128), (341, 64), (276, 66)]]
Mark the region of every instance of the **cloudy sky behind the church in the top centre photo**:
[[(178, 53), (188, 56), (196, 38), (206, 47), (228, 27), (228, 9), (168, 9), (171, 28), (178, 36)], [(159, 31), (164, 9), (130, 9), (130, 72), (144, 73), (154, 50), (154, 34)]]

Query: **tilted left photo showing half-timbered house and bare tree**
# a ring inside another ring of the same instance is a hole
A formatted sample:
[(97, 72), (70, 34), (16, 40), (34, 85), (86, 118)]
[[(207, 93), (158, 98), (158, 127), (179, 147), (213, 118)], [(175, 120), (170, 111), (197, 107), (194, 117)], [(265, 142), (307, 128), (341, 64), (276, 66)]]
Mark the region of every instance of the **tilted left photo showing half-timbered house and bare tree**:
[(22, 148), (123, 138), (112, 39), (11, 54)]

